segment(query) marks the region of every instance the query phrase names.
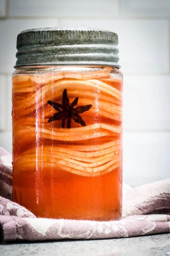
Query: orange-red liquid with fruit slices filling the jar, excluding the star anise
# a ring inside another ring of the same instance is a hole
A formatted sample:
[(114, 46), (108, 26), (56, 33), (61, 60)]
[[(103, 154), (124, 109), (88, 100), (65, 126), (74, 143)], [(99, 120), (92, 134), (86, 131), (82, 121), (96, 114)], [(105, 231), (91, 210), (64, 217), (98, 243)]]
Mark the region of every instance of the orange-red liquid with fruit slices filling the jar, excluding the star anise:
[[(43, 79), (34, 82), (36, 76), (31, 75), (13, 78), (13, 201), (37, 217), (119, 219), (122, 197), (122, 116), (119, 111), (122, 81), (110, 76), (98, 78), (102, 86), (106, 84), (116, 89), (113, 97), (109, 95), (110, 87), (103, 91), (102, 87), (95, 85), (96, 79), (88, 95), (85, 84), (85, 91), (81, 87), (76, 89), (77, 85), (75, 88), (67, 87), (70, 79), (74, 83), (75, 78), (63, 78), (52, 83), (47, 81), (46, 75)], [(66, 83), (62, 85), (60, 81), (64, 79)], [(89, 86), (87, 81), (87, 91), (91, 88)], [(70, 129), (67, 121), (64, 128), (61, 120), (48, 123), (58, 111), (47, 101), (62, 104), (65, 88), (70, 104), (78, 97), (75, 108), (92, 105), (90, 110), (80, 114), (86, 126), (73, 119)], [(112, 97), (114, 103), (109, 102)], [(109, 103), (111, 111), (107, 110)], [(97, 128), (94, 125), (98, 125)]]

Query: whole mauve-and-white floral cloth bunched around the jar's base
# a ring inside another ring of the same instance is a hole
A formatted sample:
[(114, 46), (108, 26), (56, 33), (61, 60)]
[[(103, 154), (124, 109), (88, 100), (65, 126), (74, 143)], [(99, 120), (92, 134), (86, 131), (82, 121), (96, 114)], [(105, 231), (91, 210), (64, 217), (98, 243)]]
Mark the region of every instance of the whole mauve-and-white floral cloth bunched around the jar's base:
[(170, 179), (131, 188), (124, 184), (117, 221), (37, 218), (11, 201), (11, 155), (0, 148), (0, 237), (12, 240), (123, 238), (170, 232)]

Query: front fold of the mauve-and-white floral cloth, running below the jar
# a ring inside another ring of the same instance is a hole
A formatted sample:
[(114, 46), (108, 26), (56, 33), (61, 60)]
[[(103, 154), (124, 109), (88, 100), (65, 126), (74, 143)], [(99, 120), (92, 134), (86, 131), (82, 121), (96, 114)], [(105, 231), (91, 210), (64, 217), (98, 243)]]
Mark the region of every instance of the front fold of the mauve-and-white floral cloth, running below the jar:
[[(158, 214), (159, 215), (159, 214)], [(0, 216), (4, 240), (103, 239), (169, 233), (170, 216), (137, 215), (118, 221), (63, 220)], [(9, 230), (12, 230), (9, 236)], [(12, 235), (11, 235), (12, 234)], [(10, 239), (9, 239), (10, 238)]]

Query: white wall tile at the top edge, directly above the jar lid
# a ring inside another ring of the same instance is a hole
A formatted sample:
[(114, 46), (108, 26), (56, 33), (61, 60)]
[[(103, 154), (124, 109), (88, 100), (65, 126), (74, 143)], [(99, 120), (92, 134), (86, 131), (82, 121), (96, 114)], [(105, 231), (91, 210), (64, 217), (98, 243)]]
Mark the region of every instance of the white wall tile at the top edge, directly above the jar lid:
[(119, 0), (9, 0), (9, 17), (116, 17)]

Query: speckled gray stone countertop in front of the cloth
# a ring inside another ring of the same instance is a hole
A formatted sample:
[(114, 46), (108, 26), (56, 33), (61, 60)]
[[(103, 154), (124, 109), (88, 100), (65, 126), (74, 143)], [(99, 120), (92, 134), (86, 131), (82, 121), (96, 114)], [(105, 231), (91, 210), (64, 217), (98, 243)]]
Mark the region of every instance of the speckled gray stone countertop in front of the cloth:
[(0, 256), (170, 256), (170, 234), (0, 244)]

